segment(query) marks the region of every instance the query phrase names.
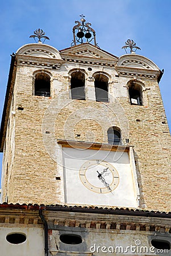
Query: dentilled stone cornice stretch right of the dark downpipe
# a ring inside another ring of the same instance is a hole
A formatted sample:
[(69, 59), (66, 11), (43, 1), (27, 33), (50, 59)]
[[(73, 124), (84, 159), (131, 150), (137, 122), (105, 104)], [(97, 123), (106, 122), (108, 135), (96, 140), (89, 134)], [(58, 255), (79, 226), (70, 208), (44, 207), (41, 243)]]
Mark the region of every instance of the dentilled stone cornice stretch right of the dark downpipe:
[(139, 230), (146, 232), (171, 233), (171, 220), (153, 217), (120, 216), (107, 214), (44, 212), (49, 229), (59, 226), (70, 228), (106, 229), (106, 230)]

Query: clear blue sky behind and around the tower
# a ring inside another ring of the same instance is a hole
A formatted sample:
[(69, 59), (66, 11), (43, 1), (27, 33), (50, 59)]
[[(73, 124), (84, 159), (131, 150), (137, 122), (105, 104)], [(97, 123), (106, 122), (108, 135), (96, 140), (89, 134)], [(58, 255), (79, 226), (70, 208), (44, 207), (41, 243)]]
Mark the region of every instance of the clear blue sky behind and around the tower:
[[(34, 43), (37, 28), (57, 49), (70, 47), (74, 21), (84, 14), (97, 34), (99, 47), (121, 56), (127, 39), (134, 39), (138, 54), (154, 61), (165, 73), (160, 89), (171, 127), (171, 1), (170, 0), (1, 0), (0, 1), (0, 118), (10, 67), (10, 54)], [(2, 159), (2, 154), (0, 163)], [(1, 167), (0, 167), (1, 168)]]

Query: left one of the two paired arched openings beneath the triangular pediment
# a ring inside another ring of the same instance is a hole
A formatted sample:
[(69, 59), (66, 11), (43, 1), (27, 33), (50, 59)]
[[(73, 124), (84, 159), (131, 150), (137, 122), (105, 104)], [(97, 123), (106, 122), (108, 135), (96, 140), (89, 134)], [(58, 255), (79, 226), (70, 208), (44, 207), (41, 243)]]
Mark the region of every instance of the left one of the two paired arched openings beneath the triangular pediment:
[(80, 71), (73, 72), (70, 80), (70, 90), (73, 100), (85, 100), (85, 75)]

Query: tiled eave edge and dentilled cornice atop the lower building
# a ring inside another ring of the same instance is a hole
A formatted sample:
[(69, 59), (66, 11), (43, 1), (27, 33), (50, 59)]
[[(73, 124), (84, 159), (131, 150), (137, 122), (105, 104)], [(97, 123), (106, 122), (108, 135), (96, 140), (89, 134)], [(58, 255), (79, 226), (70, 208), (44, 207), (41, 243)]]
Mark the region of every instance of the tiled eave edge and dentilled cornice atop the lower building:
[[(76, 229), (138, 230), (171, 233), (170, 213), (111, 209), (111, 213), (114, 214), (108, 214), (110, 209), (102, 207), (90, 209), (85, 207), (2, 204), (0, 205), (0, 225), (42, 224), (39, 217), (39, 209), (43, 210), (49, 229), (70, 227)], [(79, 211), (79, 209), (82, 209), (82, 211)], [(145, 216), (145, 213), (149, 214), (149, 216)]]

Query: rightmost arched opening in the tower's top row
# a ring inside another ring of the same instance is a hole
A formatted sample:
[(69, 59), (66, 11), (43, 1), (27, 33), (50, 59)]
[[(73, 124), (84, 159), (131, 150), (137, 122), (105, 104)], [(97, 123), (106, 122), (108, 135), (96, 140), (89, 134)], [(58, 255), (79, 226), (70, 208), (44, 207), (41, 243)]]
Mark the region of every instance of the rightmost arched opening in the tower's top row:
[(143, 105), (143, 94), (141, 85), (136, 82), (130, 82), (128, 86), (131, 105)]

